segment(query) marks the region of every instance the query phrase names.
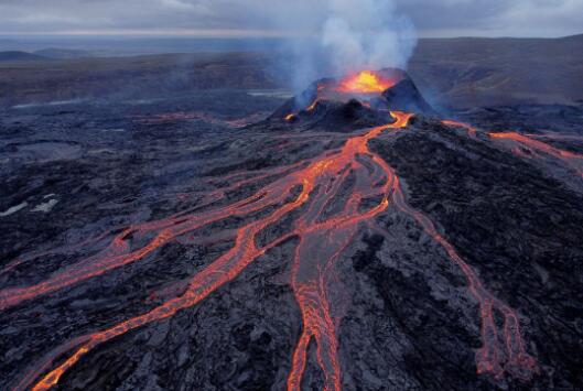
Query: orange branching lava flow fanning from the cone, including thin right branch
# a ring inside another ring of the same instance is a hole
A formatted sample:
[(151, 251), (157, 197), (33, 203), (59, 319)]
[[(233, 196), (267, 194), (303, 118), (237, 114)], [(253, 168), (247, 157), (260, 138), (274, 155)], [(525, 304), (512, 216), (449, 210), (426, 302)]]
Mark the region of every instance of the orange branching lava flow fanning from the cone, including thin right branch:
[[(311, 343), (315, 343), (324, 389), (339, 390), (342, 384), (337, 339), (339, 317), (335, 315), (338, 314), (339, 303), (331, 293), (331, 284), (339, 280), (335, 275), (335, 264), (358, 233), (360, 224), (371, 221), (375, 216), (385, 211), (390, 200), (404, 214), (412, 216), (428, 235), (443, 246), (452, 261), (466, 275), (469, 291), (481, 305), (484, 347), (476, 355), (478, 372), (501, 376), (506, 369), (527, 378), (535, 368), (535, 361), (525, 351), (517, 315), (486, 291), (476, 273), (460, 258), (453, 246), (436, 231), (431, 220), (406, 204), (395, 171), (368, 149), (371, 139), (386, 130), (406, 128), (412, 117), (403, 112), (391, 112), (391, 115), (396, 119), (395, 123), (349, 138), (335, 153), (325, 153), (285, 169), (268, 170), (263, 175), (271, 173), (279, 178), (244, 200), (198, 214), (179, 214), (164, 220), (130, 227), (116, 236), (112, 243), (99, 254), (65, 269), (45, 282), (31, 287), (1, 291), (2, 307), (6, 308), (23, 300), (54, 292), (137, 261), (164, 243), (214, 221), (234, 215), (244, 219), (260, 210), (269, 211), (267, 216), (244, 222), (236, 231), (234, 247), (194, 275), (181, 296), (168, 300), (145, 314), (78, 337), (53, 350), (17, 385), (17, 390), (29, 388), (39, 377), (41, 378), (33, 390), (51, 389), (58, 383), (66, 371), (99, 345), (196, 305), (237, 278), (245, 268), (267, 251), (292, 237), (299, 238), (292, 260), (291, 286), (302, 314), (302, 333), (292, 356), (288, 389), (291, 391), (301, 389), (309, 347)], [(339, 195), (348, 175), (355, 177), (355, 183), (346, 203), (343, 204), (342, 210), (326, 216), (327, 206)], [(234, 186), (241, 185), (246, 181), (249, 180), (240, 181)], [(299, 194), (296, 191), (300, 191)], [(370, 199), (379, 199), (379, 202), (374, 207), (363, 208), (364, 200)], [(257, 243), (256, 239), (260, 232), (280, 222), (293, 210), (299, 217), (292, 222), (288, 233), (263, 246)], [(143, 247), (130, 250), (130, 245), (127, 242), (129, 236), (139, 242), (140, 237), (148, 238), (152, 235), (154, 238), (147, 240)], [(493, 318), (494, 311), (500, 312), (505, 319), (503, 332), (505, 347), (500, 347), (498, 343), (498, 330)], [(51, 369), (54, 361), (66, 352), (71, 356), (56, 368)], [(503, 368), (504, 363), (506, 366)]]

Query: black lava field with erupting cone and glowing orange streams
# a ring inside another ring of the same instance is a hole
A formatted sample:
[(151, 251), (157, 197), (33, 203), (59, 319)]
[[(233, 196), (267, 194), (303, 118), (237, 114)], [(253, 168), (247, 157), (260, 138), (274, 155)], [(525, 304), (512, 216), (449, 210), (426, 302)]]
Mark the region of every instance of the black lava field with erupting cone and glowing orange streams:
[(581, 389), (583, 109), (403, 79), (7, 111), (0, 389)]

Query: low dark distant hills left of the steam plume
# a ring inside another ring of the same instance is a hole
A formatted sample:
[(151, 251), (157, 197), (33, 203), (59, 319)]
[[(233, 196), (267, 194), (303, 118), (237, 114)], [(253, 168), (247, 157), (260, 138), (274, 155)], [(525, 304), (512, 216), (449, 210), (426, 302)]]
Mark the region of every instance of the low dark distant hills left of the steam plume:
[(255, 53), (165, 54), (0, 62), (0, 106), (87, 97), (156, 97), (201, 89), (269, 89), (268, 58)]

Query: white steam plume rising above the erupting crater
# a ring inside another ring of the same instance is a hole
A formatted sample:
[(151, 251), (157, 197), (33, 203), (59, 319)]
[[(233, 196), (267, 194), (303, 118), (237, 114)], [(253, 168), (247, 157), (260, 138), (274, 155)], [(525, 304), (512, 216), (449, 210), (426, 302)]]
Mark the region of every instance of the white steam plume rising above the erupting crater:
[(302, 4), (305, 3), (268, 12), (280, 26), (311, 33), (310, 40), (290, 42), (293, 58), (288, 58), (285, 66), (291, 70), (295, 93), (321, 77), (364, 69), (407, 68), (417, 34), (411, 20), (398, 12), (393, 0), (325, 0), (310, 7)]

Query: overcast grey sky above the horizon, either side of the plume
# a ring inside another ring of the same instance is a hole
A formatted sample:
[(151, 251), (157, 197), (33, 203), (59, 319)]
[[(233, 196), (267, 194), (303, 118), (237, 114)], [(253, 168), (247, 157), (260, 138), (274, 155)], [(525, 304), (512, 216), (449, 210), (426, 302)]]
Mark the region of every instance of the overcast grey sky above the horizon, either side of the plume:
[[(583, 33), (583, 0), (386, 0), (419, 36)], [(0, 0), (0, 34), (310, 35), (326, 0)], [(352, 3), (358, 15), (359, 0)]]

